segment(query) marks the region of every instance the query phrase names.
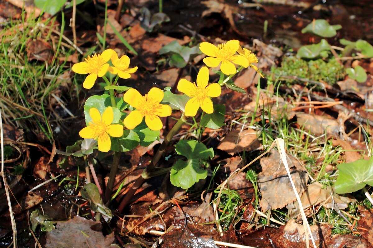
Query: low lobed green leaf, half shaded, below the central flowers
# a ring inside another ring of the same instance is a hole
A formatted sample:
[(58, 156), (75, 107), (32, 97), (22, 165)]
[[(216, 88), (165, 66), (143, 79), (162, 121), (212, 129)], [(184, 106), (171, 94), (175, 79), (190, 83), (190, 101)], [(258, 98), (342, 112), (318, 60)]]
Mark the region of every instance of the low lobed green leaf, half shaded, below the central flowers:
[(214, 157), (212, 148), (196, 140), (186, 141), (182, 139), (175, 145), (177, 154), (187, 158), (186, 161), (178, 160), (172, 166), (170, 181), (176, 187), (189, 189), (200, 179), (207, 177), (207, 160)]

